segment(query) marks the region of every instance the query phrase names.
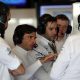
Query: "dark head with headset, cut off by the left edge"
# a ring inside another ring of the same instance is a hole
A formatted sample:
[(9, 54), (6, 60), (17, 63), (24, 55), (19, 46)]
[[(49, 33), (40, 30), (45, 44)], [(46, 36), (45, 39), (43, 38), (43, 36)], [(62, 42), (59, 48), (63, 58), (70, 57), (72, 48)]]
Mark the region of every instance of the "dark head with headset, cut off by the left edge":
[(4, 29), (4, 32), (8, 27), (8, 20), (10, 20), (10, 9), (8, 5), (0, 2), (0, 23), (4, 24), (2, 27)]

